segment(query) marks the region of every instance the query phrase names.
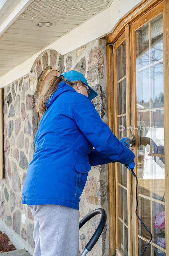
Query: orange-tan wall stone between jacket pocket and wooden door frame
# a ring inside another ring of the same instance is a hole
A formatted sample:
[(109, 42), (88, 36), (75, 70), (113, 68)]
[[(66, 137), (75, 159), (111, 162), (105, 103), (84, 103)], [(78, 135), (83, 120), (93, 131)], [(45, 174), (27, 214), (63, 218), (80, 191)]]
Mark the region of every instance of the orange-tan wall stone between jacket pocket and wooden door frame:
[(88, 203), (99, 204), (97, 189), (99, 189), (99, 181), (92, 176), (85, 184), (85, 195)]

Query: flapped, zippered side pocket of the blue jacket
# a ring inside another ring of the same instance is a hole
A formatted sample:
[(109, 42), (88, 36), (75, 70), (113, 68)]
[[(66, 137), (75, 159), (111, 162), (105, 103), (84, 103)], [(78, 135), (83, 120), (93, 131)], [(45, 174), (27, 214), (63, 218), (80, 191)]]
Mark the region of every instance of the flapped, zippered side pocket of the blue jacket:
[[(87, 163), (76, 163), (75, 165), (75, 169), (77, 171), (77, 179), (76, 179), (76, 192), (75, 192), (75, 198), (77, 196), (77, 194), (79, 194), (79, 196), (81, 195), (84, 187), (85, 187), (85, 183), (87, 180), (87, 174), (91, 169), (90, 164)], [(82, 176), (82, 179), (81, 179)]]

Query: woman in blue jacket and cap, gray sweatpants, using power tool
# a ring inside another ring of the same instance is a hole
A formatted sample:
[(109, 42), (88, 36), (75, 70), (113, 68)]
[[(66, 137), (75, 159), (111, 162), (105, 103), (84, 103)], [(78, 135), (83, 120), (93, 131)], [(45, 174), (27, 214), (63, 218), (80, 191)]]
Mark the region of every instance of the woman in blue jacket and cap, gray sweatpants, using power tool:
[(91, 166), (136, 163), (133, 148), (101, 120), (95, 96), (83, 74), (70, 70), (54, 76), (36, 101), (42, 117), (22, 190), (34, 217), (33, 256), (77, 256), (79, 197)]

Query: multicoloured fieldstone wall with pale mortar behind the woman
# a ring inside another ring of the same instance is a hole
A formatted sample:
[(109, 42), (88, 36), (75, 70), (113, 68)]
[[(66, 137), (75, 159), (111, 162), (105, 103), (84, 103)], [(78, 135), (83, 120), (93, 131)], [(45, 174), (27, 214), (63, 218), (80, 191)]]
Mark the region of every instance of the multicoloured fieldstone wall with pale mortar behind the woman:
[[(65, 56), (49, 49), (35, 60), (30, 73), (4, 87), (4, 179), (0, 180), (0, 229), (7, 233), (18, 249), (33, 254), (33, 216), (22, 204), (22, 188), (28, 164), (34, 153), (34, 137), (38, 128), (38, 114), (34, 99), (38, 95), (40, 79), (48, 67), (60, 73), (74, 69), (87, 78), (98, 92), (92, 100), (102, 120), (107, 123), (107, 71), (105, 40), (99, 39)], [(108, 255), (108, 164), (92, 166), (85, 189), (80, 197), (80, 219), (96, 208), (107, 211), (107, 225), (97, 244), (88, 255)], [(79, 253), (84, 250), (97, 225), (95, 216), (79, 231)]]

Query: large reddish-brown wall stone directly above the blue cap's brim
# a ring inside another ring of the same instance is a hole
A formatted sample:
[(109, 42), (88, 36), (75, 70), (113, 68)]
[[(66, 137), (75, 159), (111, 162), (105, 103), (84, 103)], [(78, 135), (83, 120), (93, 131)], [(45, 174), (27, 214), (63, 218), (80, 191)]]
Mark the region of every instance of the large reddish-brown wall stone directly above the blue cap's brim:
[(99, 47), (95, 47), (90, 51), (87, 71), (87, 81), (94, 82), (96, 79), (103, 78), (104, 59)]

